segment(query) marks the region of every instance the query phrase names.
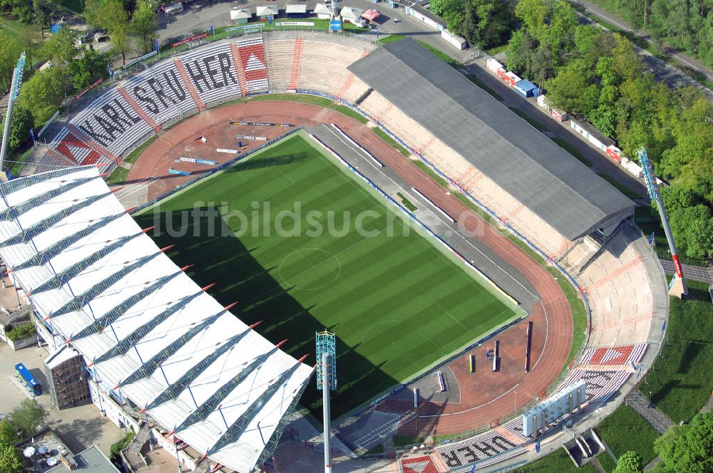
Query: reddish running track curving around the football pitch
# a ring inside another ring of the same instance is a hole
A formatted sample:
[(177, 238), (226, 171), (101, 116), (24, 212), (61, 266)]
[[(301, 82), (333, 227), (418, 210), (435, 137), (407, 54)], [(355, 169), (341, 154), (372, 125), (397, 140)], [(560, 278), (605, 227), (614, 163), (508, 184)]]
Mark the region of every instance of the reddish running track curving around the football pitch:
[[(453, 197), (446, 189), (419, 170), (411, 160), (389, 146), (369, 128), (353, 118), (334, 110), (307, 103), (284, 101), (254, 101), (208, 110), (183, 123), (175, 125), (155, 140), (138, 158), (128, 175), (128, 182), (138, 182), (146, 177), (158, 177), (150, 184), (149, 198), (153, 198), (188, 180), (168, 174), (168, 167), (201, 172), (200, 165), (175, 162), (179, 156), (226, 162), (234, 155), (216, 152), (217, 147), (235, 148), (234, 135), (259, 135), (269, 138), (282, 132), (283, 128), (236, 127), (228, 120), (255, 122), (293, 123), (294, 125), (317, 125), (337, 123), (342, 130), (379, 157), (384, 165), (391, 167), (405, 182), (429, 197), (441, 209), (456, 217), (465, 228), (488, 249), (508, 262), (519, 275), (535, 289), (540, 303), (527, 319), (533, 321), (533, 347), (530, 373), (525, 373), (526, 323), (508, 328), (500, 335), (501, 370), (492, 373), (485, 358), (485, 351), (492, 348), (488, 343), (448, 364), (456, 377), (460, 395), (458, 399), (445, 402), (426, 400), (417, 410), (418, 416), (401, 426), (404, 435), (447, 435), (475, 429), (498, 422), (501, 417), (513, 412), (530, 400), (541, 396), (558, 377), (567, 361), (573, 338), (573, 322), (567, 298), (553, 276), (537, 261), (525, 254), (510, 241), (501, 230), (491, 227), (463, 202)], [(198, 138), (205, 136), (207, 143)], [(260, 145), (248, 141), (245, 149)], [(468, 355), (476, 355), (476, 373), (470, 374)], [(403, 395), (389, 397), (376, 408), (383, 412), (405, 412), (413, 408), (413, 400)], [(406, 396), (407, 397), (407, 396)], [(421, 397), (429, 397), (421, 393)]]

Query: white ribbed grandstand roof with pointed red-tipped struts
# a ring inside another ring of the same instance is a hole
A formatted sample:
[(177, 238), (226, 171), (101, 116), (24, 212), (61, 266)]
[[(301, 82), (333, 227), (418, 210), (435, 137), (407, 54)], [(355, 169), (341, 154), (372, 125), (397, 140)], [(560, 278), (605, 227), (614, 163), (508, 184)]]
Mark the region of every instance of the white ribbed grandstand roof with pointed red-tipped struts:
[(73, 346), (103, 393), (212, 468), (247, 472), (270, 457), (312, 368), (186, 276), (97, 167), (0, 192), (0, 256), (54, 349)]

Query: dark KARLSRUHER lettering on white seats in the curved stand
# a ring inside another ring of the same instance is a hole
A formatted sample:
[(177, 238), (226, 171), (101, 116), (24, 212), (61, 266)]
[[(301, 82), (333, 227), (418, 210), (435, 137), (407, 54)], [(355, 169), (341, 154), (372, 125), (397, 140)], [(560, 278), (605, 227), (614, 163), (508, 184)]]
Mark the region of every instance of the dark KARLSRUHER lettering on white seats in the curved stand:
[[(237, 83), (229, 53), (218, 53), (198, 58), (186, 63), (185, 66), (199, 93)], [(163, 84), (165, 84), (163, 87), (157, 78), (150, 77), (129, 89), (130, 95), (151, 115), (157, 115), (189, 98), (185, 85), (175, 69), (163, 71), (159, 76), (163, 78)], [(114, 89), (107, 93), (113, 93), (113, 91)], [(130, 105), (125, 103), (121, 97), (114, 98), (95, 113), (91, 113), (91, 118), (82, 120), (77, 128), (104, 147), (111, 147), (118, 137), (142, 121), (140, 116), (133, 113)], [(68, 142), (65, 143), (65, 140)], [(76, 137), (67, 135), (58, 147), (66, 151), (67, 145), (76, 146), (74, 143), (76, 141)], [(76, 160), (75, 156), (70, 157)]]

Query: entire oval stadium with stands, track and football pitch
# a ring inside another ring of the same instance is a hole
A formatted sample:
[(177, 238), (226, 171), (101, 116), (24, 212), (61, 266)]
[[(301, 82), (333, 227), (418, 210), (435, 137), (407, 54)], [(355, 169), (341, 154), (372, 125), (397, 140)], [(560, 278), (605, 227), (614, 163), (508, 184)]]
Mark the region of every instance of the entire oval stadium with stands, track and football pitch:
[[(559, 447), (563, 422), (585, 432), (622, 402), (664, 335), (634, 203), (410, 39), (207, 43), (46, 133), (34, 174), (0, 187), (0, 256), (48, 365), (82, 365), (107, 417), (193, 471), (322, 468), (291, 424), (300, 405), (320, 417), (316, 331), (337, 333), (335, 455), (450, 436), (401, 472), (523, 464), (532, 412)], [(265, 202), (305, 214), (279, 234)], [(294, 234), (309, 211), (334, 231)], [(366, 212), (373, 237), (337, 231)]]

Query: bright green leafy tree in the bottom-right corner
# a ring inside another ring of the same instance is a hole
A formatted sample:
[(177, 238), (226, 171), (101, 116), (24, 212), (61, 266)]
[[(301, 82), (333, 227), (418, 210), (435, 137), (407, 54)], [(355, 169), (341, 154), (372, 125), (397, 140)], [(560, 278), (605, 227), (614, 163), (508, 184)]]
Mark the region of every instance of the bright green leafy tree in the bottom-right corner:
[(689, 425), (672, 426), (654, 442), (661, 458), (655, 472), (713, 471), (713, 411), (697, 414)]

